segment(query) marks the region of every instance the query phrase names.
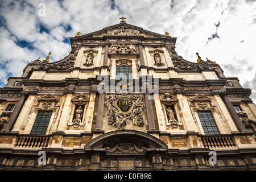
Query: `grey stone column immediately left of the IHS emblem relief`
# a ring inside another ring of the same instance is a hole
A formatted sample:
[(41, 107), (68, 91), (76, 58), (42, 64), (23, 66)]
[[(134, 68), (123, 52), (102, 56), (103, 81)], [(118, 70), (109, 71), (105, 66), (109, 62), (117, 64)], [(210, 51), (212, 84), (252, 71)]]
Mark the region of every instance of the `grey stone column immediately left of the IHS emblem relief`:
[(97, 109), (96, 129), (95, 129), (98, 131), (102, 130), (104, 100), (105, 100), (105, 93), (101, 93), (100, 96), (98, 97), (98, 109)]

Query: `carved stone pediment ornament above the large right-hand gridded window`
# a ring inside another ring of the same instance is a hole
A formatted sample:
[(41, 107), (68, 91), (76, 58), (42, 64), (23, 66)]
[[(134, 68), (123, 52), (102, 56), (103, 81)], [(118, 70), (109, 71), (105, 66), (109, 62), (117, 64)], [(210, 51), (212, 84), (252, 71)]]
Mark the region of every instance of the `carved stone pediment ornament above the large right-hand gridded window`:
[(197, 96), (189, 98), (190, 106), (194, 111), (197, 110), (215, 110), (215, 105), (212, 103), (212, 98), (198, 94)]

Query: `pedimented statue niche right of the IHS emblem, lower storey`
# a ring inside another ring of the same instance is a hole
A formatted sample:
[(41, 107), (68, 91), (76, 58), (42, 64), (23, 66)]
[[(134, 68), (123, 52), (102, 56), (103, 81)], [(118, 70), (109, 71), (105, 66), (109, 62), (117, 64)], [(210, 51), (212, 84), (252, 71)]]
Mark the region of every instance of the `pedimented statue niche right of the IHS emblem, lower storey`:
[(177, 126), (182, 125), (179, 115), (180, 107), (177, 103), (177, 98), (167, 93), (160, 98), (160, 101), (166, 118), (166, 126), (176, 128)]

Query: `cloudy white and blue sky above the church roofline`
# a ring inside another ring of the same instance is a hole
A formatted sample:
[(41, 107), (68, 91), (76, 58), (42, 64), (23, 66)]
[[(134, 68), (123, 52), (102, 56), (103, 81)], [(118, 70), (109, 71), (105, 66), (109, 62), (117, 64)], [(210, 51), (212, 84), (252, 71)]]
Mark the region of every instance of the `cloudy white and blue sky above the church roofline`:
[(169, 32), (188, 61), (196, 63), (196, 52), (216, 61), (226, 77), (252, 89), (256, 104), (256, 0), (1, 0), (0, 87), (49, 51), (52, 62), (63, 59), (77, 32), (102, 30), (121, 16), (145, 30)]

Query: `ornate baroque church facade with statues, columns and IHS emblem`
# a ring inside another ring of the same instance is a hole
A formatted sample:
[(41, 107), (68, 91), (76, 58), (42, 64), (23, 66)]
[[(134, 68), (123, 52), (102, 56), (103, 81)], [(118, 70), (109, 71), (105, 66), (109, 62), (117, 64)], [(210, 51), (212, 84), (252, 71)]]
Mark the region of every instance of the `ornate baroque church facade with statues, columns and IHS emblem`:
[(0, 88), (0, 170), (256, 169), (251, 90), (220, 65), (123, 18), (70, 40)]

